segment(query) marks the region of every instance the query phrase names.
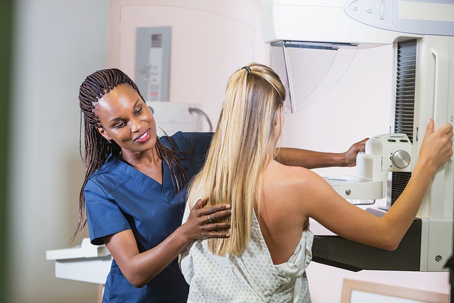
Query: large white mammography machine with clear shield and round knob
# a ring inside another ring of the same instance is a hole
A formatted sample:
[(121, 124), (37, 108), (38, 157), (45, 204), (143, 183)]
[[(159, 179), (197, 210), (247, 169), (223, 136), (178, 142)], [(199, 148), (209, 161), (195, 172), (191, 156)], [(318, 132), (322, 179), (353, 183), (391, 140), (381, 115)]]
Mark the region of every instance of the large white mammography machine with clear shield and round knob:
[[(262, 0), (263, 40), (287, 86), (290, 112), (316, 102), (357, 52), (393, 45), (391, 133), (373, 136), (356, 177), (327, 181), (347, 199), (387, 198), (410, 179), (429, 118), (454, 124), (454, 3), (449, 0)], [(439, 168), (399, 247), (385, 251), (338, 236), (316, 236), (313, 260), (353, 271), (446, 271), (452, 255), (454, 159)], [(377, 216), (385, 210), (371, 209)]]

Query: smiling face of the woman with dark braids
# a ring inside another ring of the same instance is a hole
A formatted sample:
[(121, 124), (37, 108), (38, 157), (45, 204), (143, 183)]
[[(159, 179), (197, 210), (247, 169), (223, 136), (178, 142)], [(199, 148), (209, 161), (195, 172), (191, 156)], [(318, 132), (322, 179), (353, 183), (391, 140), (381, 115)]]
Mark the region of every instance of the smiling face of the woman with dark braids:
[(154, 147), (156, 122), (131, 85), (118, 85), (103, 95), (95, 104), (94, 113), (102, 125), (99, 133), (120, 145), (124, 156)]

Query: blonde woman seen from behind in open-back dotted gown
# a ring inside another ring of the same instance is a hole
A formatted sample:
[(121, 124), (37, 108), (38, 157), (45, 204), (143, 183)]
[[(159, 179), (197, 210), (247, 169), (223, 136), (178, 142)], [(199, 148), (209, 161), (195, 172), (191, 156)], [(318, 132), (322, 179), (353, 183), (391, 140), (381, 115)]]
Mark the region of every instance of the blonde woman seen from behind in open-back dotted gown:
[(393, 250), (416, 216), (435, 170), (452, 155), (452, 126), (434, 132), (430, 119), (406, 189), (386, 215), (375, 217), (314, 172), (274, 160), (285, 95), (279, 77), (255, 63), (227, 83), (217, 129), (188, 201), (203, 196), (208, 206), (230, 201), (231, 236), (196, 240), (182, 252), (188, 302), (310, 302), (305, 275), (313, 239), (309, 218), (345, 238)]

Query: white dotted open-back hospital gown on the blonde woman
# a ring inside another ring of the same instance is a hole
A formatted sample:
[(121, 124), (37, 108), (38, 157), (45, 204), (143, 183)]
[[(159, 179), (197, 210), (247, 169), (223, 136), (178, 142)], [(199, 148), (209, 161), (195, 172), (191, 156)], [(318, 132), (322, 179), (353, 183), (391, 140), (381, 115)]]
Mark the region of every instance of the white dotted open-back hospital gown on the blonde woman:
[[(186, 207), (183, 222), (189, 216)], [(215, 256), (206, 241), (188, 245), (180, 266), (190, 284), (190, 303), (203, 302), (310, 302), (306, 268), (312, 259), (314, 235), (307, 228), (289, 261), (274, 265), (257, 218), (253, 216), (252, 236), (239, 257)]]

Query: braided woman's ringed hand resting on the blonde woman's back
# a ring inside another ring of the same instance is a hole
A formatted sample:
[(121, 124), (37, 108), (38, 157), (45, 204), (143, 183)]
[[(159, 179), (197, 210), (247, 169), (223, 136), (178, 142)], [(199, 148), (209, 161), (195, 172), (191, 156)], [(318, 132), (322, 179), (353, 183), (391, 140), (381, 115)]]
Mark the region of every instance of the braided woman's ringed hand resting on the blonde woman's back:
[(232, 206), (220, 204), (203, 207), (206, 201), (206, 197), (199, 199), (189, 213), (188, 220), (182, 225), (188, 240), (230, 237), (230, 222), (218, 220), (229, 217)]

